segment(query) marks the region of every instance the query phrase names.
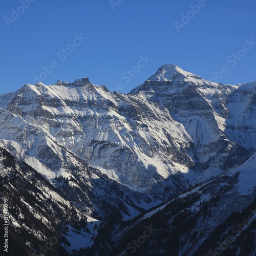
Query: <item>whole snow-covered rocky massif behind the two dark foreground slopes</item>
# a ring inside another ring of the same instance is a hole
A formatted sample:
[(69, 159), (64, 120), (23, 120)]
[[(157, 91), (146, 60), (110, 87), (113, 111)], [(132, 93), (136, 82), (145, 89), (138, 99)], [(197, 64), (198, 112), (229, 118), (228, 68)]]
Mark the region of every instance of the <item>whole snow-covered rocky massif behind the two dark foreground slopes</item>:
[(0, 146), (98, 220), (132, 219), (227, 173), (246, 207), (255, 113), (256, 82), (215, 83), (163, 65), (129, 94), (82, 78), (0, 95)]

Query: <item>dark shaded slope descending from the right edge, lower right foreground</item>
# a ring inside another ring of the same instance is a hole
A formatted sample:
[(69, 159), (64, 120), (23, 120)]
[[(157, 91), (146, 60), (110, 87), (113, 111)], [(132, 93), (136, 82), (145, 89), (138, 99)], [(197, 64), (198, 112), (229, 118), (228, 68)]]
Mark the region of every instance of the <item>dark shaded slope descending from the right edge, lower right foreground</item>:
[(133, 222), (123, 222), (112, 233), (116, 240), (110, 255), (255, 255), (254, 157)]

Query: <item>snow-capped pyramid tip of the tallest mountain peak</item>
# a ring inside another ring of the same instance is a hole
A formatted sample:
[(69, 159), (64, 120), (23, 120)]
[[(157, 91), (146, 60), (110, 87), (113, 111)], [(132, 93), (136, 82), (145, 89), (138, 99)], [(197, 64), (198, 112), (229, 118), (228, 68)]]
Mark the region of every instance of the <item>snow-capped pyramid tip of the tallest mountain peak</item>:
[(182, 70), (180, 67), (173, 64), (165, 64), (162, 65), (156, 72), (155, 75), (151, 76), (147, 80), (150, 81), (173, 81), (179, 78), (184, 78), (187, 76), (198, 77), (195, 74), (190, 72), (186, 72)]

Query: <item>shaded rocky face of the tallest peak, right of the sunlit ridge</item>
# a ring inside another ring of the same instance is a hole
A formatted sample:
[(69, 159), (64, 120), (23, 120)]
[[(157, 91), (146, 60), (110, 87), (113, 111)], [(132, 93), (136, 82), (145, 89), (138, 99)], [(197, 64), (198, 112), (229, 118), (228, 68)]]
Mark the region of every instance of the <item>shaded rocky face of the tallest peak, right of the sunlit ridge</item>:
[(202, 170), (227, 169), (232, 166), (232, 159), (248, 155), (243, 144), (227, 135), (226, 120), (230, 112), (226, 102), (236, 89), (236, 86), (212, 83), (178, 67), (165, 65), (131, 93), (150, 91), (149, 98), (159, 100), (170, 116), (184, 126), (191, 140), (195, 168)]

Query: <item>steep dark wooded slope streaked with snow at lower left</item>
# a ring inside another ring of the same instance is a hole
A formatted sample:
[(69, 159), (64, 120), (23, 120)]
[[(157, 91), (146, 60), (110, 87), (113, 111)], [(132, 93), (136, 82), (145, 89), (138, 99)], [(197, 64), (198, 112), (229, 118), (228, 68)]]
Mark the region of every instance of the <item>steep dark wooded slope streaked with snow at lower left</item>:
[[(4, 230), (9, 225), (7, 237), (0, 234), (1, 242), (8, 240), (7, 250), (1, 244), (1, 255), (46, 255), (49, 251), (69, 255), (67, 251), (93, 245), (92, 237), (98, 233), (94, 226), (103, 222), (90, 217), (85, 206), (72, 203), (61, 189), (4, 148), (0, 148), (0, 182), (0, 197), (6, 204), (4, 211), (1, 202), (0, 226)], [(56, 183), (68, 186), (63, 178)]]

